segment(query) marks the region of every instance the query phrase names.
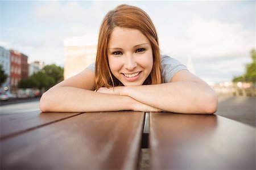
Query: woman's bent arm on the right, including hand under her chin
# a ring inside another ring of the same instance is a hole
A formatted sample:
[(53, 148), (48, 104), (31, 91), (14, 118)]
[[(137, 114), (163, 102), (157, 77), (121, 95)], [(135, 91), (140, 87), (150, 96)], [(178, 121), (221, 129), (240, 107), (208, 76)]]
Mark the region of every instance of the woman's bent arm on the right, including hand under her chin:
[[(101, 91), (111, 92), (106, 89)], [(214, 113), (217, 110), (215, 92), (187, 70), (177, 72), (170, 83), (115, 87), (114, 93), (133, 97), (141, 103), (168, 112)]]

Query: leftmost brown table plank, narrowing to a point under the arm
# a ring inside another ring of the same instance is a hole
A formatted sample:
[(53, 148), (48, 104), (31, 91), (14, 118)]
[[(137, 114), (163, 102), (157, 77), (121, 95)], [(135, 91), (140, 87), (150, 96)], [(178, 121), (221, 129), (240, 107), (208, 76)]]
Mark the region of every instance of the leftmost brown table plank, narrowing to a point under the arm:
[(0, 115), (0, 139), (5, 139), (24, 131), (38, 128), (63, 120), (64, 118), (76, 116), (80, 113), (41, 113), (40, 111), (1, 114)]

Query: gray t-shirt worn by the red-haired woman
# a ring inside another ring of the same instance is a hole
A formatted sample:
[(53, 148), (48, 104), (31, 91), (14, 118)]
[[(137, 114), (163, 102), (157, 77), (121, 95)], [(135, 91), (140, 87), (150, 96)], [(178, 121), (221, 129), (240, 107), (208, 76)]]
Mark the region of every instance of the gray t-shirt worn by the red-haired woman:
[[(95, 62), (91, 63), (86, 69), (91, 70), (95, 73)], [(177, 59), (171, 58), (167, 55), (161, 55), (161, 70), (164, 79), (164, 83), (170, 82), (172, 76), (174, 76), (180, 70), (187, 70), (187, 67), (184, 66)]]

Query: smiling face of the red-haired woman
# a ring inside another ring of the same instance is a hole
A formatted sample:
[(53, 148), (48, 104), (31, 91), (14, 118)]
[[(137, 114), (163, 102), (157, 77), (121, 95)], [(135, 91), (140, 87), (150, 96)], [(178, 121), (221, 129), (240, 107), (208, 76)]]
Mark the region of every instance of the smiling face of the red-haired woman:
[(109, 67), (124, 86), (139, 86), (150, 75), (150, 41), (138, 29), (115, 27), (108, 44)]

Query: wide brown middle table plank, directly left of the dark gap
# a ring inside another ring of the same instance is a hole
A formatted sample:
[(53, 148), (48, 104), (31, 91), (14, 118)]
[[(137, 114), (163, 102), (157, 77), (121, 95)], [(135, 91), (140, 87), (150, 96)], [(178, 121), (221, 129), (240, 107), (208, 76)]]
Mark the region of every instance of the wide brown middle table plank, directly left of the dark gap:
[(1, 169), (136, 169), (143, 112), (83, 113), (1, 142)]

